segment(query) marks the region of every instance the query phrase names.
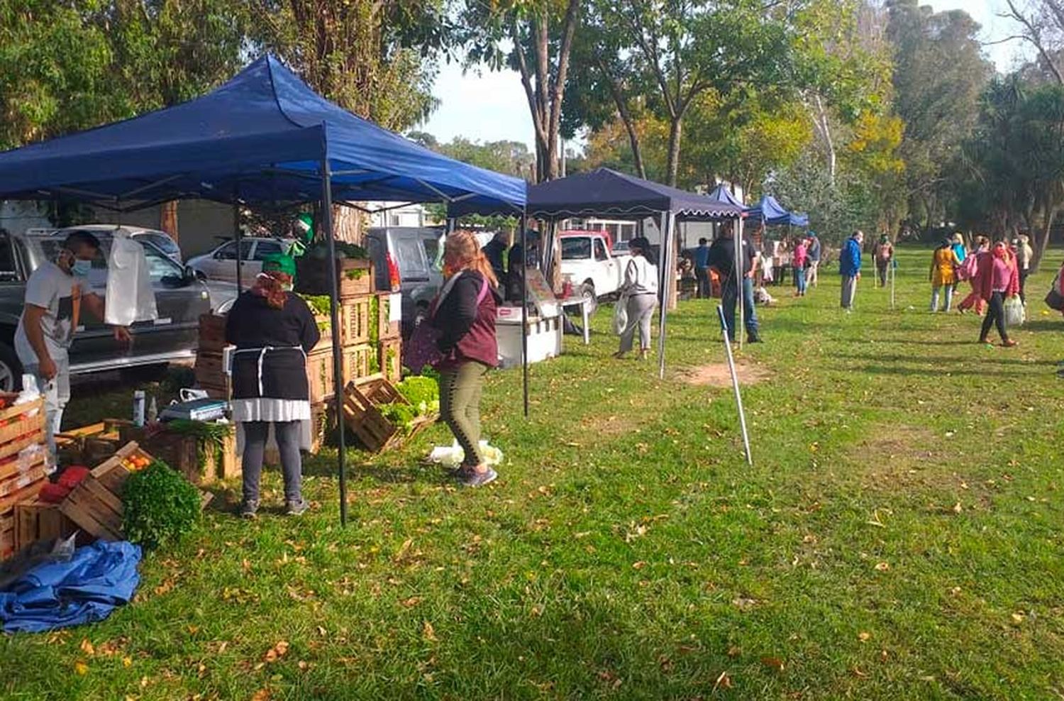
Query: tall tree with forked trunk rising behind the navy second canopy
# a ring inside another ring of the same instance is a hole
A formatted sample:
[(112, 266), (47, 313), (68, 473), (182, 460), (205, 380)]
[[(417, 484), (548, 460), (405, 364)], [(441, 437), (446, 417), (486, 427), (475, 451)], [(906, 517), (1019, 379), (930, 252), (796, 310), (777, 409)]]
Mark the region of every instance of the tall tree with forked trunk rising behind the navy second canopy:
[(465, 0), (461, 36), (470, 66), (516, 70), (535, 132), (536, 180), (559, 174), (562, 103), (580, 0)]

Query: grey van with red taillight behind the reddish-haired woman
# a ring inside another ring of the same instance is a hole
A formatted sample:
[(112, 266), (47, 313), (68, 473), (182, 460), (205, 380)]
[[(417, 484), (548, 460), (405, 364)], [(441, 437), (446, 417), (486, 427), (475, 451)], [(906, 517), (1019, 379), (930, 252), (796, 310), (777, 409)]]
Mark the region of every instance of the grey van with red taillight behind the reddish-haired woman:
[(409, 331), (417, 314), (444, 284), (436, 266), (443, 228), (388, 227), (366, 232), (366, 249), (373, 262), (378, 289), (402, 293), (403, 328)]

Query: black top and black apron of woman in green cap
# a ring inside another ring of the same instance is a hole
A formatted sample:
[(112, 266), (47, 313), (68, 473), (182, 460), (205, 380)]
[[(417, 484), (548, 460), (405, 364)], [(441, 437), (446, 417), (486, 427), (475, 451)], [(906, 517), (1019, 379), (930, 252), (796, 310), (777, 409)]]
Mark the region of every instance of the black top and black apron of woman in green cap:
[[(306, 384), (306, 362), (303, 354), (292, 349), (299, 346), (310, 351), (321, 338), (314, 314), (306, 302), (288, 293), (284, 307), (276, 310), (251, 291), (243, 293), (226, 318), (226, 340), (237, 350), (249, 352), (233, 355), (233, 398), (310, 399)], [(262, 385), (259, 393), (259, 357), (250, 349), (277, 349), (262, 356)]]

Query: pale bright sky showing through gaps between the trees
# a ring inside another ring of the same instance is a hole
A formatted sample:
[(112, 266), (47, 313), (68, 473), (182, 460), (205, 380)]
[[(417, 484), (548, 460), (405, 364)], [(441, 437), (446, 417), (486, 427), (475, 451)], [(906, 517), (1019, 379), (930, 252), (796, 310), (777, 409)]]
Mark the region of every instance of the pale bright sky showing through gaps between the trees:
[[(1013, 23), (998, 13), (1004, 0), (930, 0), (935, 12), (965, 10), (982, 26), (980, 38), (993, 41), (1014, 33)], [(1018, 41), (986, 47), (987, 55), (1001, 71), (1012, 68), (1021, 50)], [(439, 106), (420, 130), (440, 141), (465, 136), (479, 141), (523, 141), (532, 148), (532, 118), (520, 79), (514, 71), (463, 74), (458, 64), (445, 65), (433, 93)]]

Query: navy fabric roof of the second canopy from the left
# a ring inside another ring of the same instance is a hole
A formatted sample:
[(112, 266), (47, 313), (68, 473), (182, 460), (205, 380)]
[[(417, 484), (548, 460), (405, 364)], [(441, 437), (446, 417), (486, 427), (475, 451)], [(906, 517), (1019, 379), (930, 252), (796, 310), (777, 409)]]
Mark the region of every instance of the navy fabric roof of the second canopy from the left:
[[(533, 219), (616, 217), (636, 219), (671, 212), (680, 218), (734, 218), (743, 207), (716, 202), (677, 187), (628, 176), (610, 168), (559, 178), (528, 188), (526, 213)], [(475, 201), (456, 202), (449, 216), (504, 214)]]

